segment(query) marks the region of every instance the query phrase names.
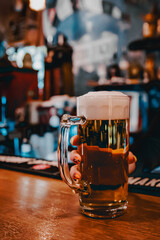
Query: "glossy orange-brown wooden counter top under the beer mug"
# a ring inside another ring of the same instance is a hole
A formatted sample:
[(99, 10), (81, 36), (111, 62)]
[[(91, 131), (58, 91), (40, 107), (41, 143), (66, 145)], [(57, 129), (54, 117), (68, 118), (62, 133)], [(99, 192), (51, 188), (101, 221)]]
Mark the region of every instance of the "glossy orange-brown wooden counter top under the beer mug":
[(0, 169), (0, 240), (160, 239), (160, 198), (129, 193), (116, 219), (80, 213), (78, 196), (62, 181)]

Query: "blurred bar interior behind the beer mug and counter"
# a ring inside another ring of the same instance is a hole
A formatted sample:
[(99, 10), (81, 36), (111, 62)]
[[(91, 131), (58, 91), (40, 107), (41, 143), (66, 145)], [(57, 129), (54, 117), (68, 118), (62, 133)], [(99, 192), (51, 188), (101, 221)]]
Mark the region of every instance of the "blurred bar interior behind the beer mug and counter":
[(100, 90), (130, 96), (130, 149), (157, 171), (159, 1), (1, 0), (1, 155), (57, 161), (61, 116)]

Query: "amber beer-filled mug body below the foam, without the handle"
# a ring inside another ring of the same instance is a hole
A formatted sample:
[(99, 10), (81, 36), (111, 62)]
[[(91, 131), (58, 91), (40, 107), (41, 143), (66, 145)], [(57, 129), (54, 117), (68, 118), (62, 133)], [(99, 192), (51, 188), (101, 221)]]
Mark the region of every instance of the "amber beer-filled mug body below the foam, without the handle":
[(82, 157), (81, 210), (91, 217), (116, 217), (127, 208), (129, 121), (87, 120), (78, 129)]

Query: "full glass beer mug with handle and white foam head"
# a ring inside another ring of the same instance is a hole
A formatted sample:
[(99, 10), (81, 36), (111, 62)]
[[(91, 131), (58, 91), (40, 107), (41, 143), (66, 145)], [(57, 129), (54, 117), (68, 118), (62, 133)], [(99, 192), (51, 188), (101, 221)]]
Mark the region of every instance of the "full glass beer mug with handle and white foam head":
[[(77, 125), (81, 179), (68, 167), (68, 141)], [(63, 115), (58, 159), (62, 179), (79, 194), (81, 212), (114, 218), (127, 209), (129, 97), (121, 92), (89, 92), (77, 98), (77, 116)]]

